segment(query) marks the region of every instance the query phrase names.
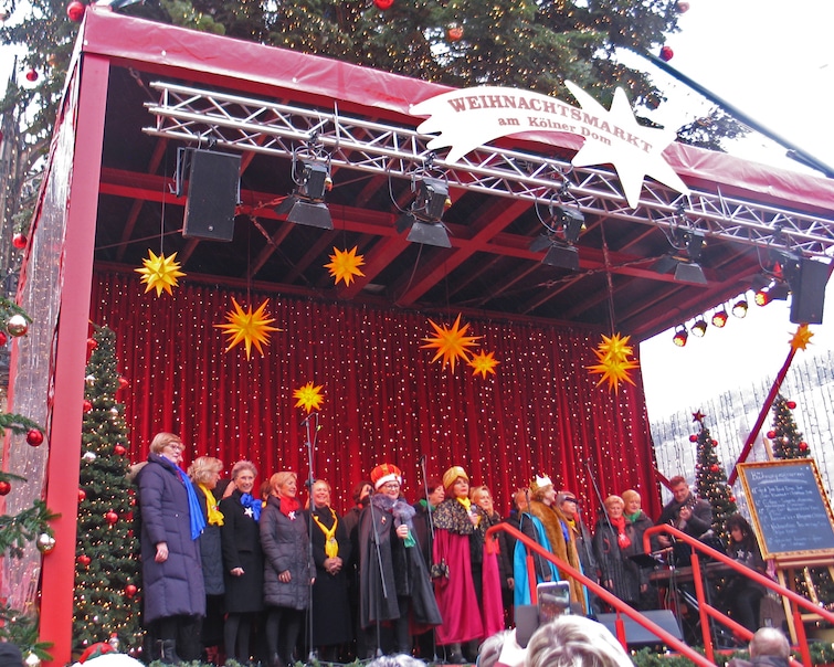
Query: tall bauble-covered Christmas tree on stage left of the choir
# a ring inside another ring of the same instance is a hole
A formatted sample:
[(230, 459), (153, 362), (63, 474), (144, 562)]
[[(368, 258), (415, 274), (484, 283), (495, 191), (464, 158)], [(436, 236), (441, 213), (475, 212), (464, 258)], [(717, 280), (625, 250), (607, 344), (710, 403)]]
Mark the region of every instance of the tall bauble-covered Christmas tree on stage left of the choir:
[(116, 369), (116, 336), (96, 328), (84, 390), (73, 637), (77, 649), (115, 634), (122, 650), (141, 646), (138, 541), (124, 405)]

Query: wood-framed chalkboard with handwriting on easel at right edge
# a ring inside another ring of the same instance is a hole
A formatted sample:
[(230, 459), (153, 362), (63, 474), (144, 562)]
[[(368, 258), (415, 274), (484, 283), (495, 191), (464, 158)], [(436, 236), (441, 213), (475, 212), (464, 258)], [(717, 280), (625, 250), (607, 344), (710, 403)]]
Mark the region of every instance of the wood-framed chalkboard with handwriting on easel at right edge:
[(764, 558), (834, 555), (834, 517), (811, 458), (738, 465)]

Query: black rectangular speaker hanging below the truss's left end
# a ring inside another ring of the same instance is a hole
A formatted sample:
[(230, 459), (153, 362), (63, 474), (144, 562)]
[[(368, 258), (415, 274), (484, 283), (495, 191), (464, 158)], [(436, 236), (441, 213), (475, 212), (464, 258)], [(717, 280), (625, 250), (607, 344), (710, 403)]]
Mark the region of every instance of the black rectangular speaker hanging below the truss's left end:
[(212, 150), (191, 150), (183, 236), (231, 241), (241, 156)]

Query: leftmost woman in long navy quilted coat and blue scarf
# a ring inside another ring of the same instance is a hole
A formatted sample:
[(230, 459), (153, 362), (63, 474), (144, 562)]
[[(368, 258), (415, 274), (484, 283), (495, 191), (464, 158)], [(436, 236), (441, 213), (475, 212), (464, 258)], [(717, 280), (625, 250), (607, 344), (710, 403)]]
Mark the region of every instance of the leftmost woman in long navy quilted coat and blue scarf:
[(145, 623), (156, 631), (156, 657), (175, 665), (180, 663), (180, 627), (205, 615), (197, 541), (205, 522), (191, 480), (179, 467), (182, 449), (179, 436), (158, 433), (150, 443), (148, 464), (137, 475)]

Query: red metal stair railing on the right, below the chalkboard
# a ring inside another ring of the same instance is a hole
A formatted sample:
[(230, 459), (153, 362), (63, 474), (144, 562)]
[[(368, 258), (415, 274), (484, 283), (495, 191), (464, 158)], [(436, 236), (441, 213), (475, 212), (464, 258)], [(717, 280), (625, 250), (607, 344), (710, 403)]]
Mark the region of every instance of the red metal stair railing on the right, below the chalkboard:
[(753, 634), (747, 629), (746, 627), (742, 627), (738, 623), (736, 623), (732, 618), (727, 616), (725, 613), (720, 612), (712, 605), (710, 605), (707, 602), (707, 596), (705, 594), (704, 589), (704, 576), (703, 576), (703, 570), (700, 565), (700, 559), (698, 557), (698, 552), (704, 553), (705, 555), (708, 555), (712, 560), (724, 563), (725, 565), (729, 567), (731, 570), (733, 570), (736, 573), (747, 576), (751, 581), (759, 583), (763, 585), (766, 589), (769, 589), (770, 591), (773, 591), (774, 593), (778, 593), (782, 599), (788, 599), (790, 601), (791, 606), (791, 613), (793, 615), (793, 624), (794, 624), (794, 632), (796, 634), (796, 644), (800, 648), (800, 654), (802, 655), (802, 661), (806, 666), (811, 666), (811, 653), (807, 648), (807, 637), (805, 636), (805, 626), (802, 624), (802, 615), (799, 611), (799, 607), (802, 607), (811, 613), (819, 614), (823, 620), (834, 623), (834, 614), (828, 612), (825, 608), (822, 608), (811, 602), (810, 600), (803, 597), (802, 595), (799, 595), (798, 593), (785, 589), (784, 586), (778, 584), (773, 580), (771, 580), (768, 576), (763, 576), (759, 572), (756, 572), (754, 570), (751, 570), (750, 568), (747, 568), (746, 565), (742, 565), (741, 563), (732, 560), (728, 555), (725, 555), (720, 551), (716, 551), (711, 547), (708, 547), (704, 542), (700, 542), (696, 538), (693, 538), (685, 532), (679, 531), (677, 528), (673, 528), (672, 526), (655, 526), (653, 528), (650, 528), (643, 533), (643, 549), (646, 553), (650, 553), (651, 548), (651, 538), (655, 534), (666, 533), (669, 536), (673, 536), (676, 540), (685, 542), (688, 544), (692, 549), (692, 568), (693, 568), (693, 583), (695, 584), (695, 595), (698, 601), (698, 613), (700, 615), (700, 628), (704, 636), (704, 650), (707, 656), (707, 658), (715, 663), (715, 653), (712, 649), (712, 637), (709, 632), (709, 618), (712, 618), (715, 621), (718, 621), (719, 623), (722, 623), (727, 627), (729, 627), (736, 635), (742, 637), (743, 639), (749, 640)]

